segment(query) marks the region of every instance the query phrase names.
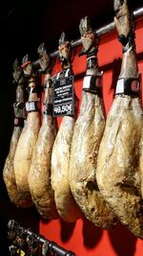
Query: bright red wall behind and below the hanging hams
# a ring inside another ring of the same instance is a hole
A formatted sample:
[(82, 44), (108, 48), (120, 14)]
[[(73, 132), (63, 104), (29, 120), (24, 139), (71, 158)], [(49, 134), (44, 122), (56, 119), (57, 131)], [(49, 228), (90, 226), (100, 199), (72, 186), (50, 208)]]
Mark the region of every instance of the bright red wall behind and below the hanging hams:
[[(139, 72), (143, 74), (143, 20), (136, 24), (136, 51)], [(78, 58), (79, 49), (75, 50), (73, 72), (75, 74), (75, 92), (81, 100), (82, 81), (86, 70), (86, 58)], [(101, 38), (98, 62), (103, 74), (103, 97), (108, 113), (115, 89), (115, 84), (120, 72), (122, 48), (117, 40), (117, 35), (112, 32)], [(61, 70), (57, 62), (53, 73)], [(141, 93), (141, 98), (143, 94)], [(58, 119), (60, 124), (61, 118)], [(43, 222), (40, 221), (40, 234), (58, 245), (70, 249), (77, 256), (142, 256), (143, 241), (119, 224), (114, 230), (106, 231), (94, 226), (90, 221), (81, 219), (75, 223), (66, 223), (62, 220)]]

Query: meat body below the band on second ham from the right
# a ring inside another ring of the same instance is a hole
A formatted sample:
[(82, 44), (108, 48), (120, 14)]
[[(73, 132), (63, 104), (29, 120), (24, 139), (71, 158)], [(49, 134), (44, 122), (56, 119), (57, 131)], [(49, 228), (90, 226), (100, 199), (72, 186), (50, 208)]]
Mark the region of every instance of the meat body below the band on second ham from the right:
[(116, 222), (115, 217), (94, 180), (104, 127), (105, 118), (100, 98), (83, 91), (82, 106), (72, 137), (70, 164), (72, 195), (84, 215), (93, 224), (111, 229)]

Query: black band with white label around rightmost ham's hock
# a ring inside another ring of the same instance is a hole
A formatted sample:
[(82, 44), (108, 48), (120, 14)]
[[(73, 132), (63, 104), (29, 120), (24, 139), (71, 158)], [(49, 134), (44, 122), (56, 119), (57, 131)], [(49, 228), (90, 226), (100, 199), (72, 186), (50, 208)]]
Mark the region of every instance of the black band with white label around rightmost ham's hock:
[(116, 84), (115, 95), (129, 95), (137, 97), (139, 95), (139, 78), (120, 78)]

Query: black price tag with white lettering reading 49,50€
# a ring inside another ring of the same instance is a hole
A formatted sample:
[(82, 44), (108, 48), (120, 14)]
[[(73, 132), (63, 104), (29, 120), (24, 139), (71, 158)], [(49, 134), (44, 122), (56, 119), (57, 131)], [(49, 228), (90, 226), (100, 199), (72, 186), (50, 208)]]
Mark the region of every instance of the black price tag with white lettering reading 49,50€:
[(73, 76), (53, 81), (53, 116), (73, 115)]

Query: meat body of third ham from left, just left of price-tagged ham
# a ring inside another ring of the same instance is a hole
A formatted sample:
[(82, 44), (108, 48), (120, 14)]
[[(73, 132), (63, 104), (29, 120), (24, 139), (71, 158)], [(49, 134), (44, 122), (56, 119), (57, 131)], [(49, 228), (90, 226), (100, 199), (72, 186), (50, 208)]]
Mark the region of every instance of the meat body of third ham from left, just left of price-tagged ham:
[(28, 175), (31, 198), (38, 212), (48, 220), (57, 218), (54, 194), (51, 189), (51, 151), (56, 136), (55, 122), (44, 115)]

